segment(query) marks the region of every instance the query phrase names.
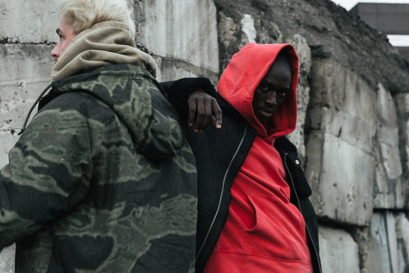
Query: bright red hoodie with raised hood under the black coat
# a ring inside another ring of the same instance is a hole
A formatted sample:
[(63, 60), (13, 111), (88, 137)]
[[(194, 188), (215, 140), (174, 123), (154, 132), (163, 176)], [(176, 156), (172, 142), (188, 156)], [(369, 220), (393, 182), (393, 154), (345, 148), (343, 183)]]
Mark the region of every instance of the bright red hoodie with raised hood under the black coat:
[[(288, 50), (291, 92), (271, 118), (270, 132), (254, 115), (254, 90), (277, 54)], [(231, 188), (229, 215), (205, 272), (312, 272), (304, 219), (290, 203), (283, 162), (274, 140), (294, 130), (297, 121), (298, 56), (291, 44), (249, 43), (221, 75), (220, 96), (257, 131)]]

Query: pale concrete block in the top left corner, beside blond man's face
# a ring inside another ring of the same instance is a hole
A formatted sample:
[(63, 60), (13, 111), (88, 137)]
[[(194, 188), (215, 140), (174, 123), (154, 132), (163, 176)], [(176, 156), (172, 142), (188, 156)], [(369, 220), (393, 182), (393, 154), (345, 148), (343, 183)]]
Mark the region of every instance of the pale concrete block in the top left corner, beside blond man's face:
[(58, 38), (55, 33), (58, 27), (56, 10), (56, 2), (52, 0), (1, 1), (0, 41), (8, 43), (56, 42)]

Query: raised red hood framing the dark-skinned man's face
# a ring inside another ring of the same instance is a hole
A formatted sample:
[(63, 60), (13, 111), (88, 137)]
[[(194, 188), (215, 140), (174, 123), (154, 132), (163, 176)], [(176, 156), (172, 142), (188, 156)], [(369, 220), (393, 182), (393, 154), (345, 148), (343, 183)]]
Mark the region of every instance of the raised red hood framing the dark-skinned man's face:
[[(288, 53), (290, 60), (291, 90), (271, 117), (271, 130), (267, 132), (254, 115), (252, 105), (254, 91), (282, 50)], [(248, 124), (256, 129), (260, 137), (274, 140), (296, 128), (298, 68), (298, 55), (293, 45), (289, 43), (248, 43), (233, 55), (220, 77), (217, 85), (218, 93), (240, 112)]]

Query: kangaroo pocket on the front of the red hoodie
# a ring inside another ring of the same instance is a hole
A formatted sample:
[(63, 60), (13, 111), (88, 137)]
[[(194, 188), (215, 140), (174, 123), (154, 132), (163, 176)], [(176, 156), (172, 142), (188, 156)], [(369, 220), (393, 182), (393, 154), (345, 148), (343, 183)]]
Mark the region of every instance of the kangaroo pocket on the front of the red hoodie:
[(276, 196), (248, 195), (256, 224), (246, 230), (244, 252), (271, 258), (310, 262), (305, 223), (293, 204)]

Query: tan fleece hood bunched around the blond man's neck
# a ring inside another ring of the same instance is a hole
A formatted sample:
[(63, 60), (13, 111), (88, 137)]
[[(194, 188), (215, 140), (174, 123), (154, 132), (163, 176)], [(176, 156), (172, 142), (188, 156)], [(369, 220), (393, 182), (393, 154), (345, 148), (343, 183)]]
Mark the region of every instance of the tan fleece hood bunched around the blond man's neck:
[(135, 47), (128, 26), (118, 21), (105, 21), (75, 36), (54, 65), (51, 75), (56, 81), (118, 63), (144, 67), (156, 77), (155, 61)]

